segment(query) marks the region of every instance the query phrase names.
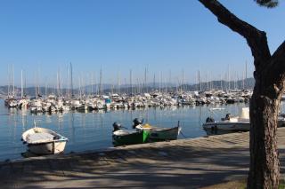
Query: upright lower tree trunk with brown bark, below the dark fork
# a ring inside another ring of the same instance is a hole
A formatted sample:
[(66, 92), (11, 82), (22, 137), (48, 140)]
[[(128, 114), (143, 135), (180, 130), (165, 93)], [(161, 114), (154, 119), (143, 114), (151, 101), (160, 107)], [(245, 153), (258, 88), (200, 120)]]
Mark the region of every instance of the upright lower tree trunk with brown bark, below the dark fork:
[[(267, 86), (266, 86), (267, 85)], [(277, 117), (280, 97), (266, 94), (273, 84), (256, 77), (250, 99), (250, 167), (248, 188), (278, 188), (280, 167), (277, 149)]]

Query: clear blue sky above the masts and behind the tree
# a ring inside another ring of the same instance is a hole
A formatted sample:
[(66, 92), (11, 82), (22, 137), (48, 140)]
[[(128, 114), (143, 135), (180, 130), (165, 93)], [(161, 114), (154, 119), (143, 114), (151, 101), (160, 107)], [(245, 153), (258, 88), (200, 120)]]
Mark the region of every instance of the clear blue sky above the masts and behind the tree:
[[(285, 39), (285, 4), (266, 9), (253, 0), (222, 0), (242, 20), (265, 30), (271, 51)], [(87, 82), (102, 67), (104, 83), (143, 78), (159, 73), (163, 80), (195, 83), (219, 79), (230, 67), (232, 77), (242, 76), (248, 61), (248, 76), (254, 70), (246, 41), (217, 22), (197, 0), (27, 0), (0, 1), (0, 84), (8, 83), (13, 65), (15, 83), (25, 70), (27, 83), (55, 84), (56, 73), (66, 80), (73, 64)]]

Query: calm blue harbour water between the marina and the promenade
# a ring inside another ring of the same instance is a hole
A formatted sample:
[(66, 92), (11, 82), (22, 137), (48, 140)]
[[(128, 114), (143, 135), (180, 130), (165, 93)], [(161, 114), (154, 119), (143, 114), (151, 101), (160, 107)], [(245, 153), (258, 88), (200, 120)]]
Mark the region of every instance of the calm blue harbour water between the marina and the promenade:
[[(82, 152), (85, 150), (98, 150), (112, 146), (111, 131), (113, 122), (120, 122), (131, 129), (134, 118), (143, 118), (144, 122), (161, 127), (174, 127), (180, 121), (182, 135), (179, 138), (197, 138), (206, 136), (202, 129), (202, 122), (209, 115), (216, 120), (224, 117), (226, 113), (240, 114), (241, 107), (248, 104), (235, 104), (227, 106), (183, 106), (146, 108), (135, 110), (114, 110), (109, 112), (66, 114), (30, 114), (16, 108), (8, 109), (4, 101), (0, 100), (0, 161), (23, 158), (21, 153), (27, 151), (20, 141), (23, 131), (34, 127), (34, 120), (38, 127), (44, 127), (59, 132), (69, 138), (65, 154)], [(212, 110), (212, 107), (221, 107), (222, 110)]]

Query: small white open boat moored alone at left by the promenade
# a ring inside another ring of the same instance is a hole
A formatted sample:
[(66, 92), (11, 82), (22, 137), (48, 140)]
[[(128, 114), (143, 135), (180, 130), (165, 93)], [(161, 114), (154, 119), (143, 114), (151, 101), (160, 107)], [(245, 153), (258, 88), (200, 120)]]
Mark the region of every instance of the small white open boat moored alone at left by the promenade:
[(21, 136), (28, 150), (33, 154), (60, 154), (64, 151), (68, 138), (53, 130), (34, 127), (26, 130)]

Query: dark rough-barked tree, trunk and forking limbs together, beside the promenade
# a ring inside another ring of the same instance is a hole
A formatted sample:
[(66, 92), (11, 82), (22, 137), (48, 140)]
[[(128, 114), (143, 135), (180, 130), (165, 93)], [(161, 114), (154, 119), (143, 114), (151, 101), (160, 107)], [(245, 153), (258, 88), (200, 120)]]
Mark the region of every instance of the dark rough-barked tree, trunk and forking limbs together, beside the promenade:
[(277, 117), (285, 81), (285, 42), (271, 55), (264, 31), (237, 18), (216, 0), (199, 0), (218, 21), (248, 42), (254, 57), (256, 80), (250, 98), (250, 166), (248, 188), (278, 188), (280, 162), (277, 149)]

